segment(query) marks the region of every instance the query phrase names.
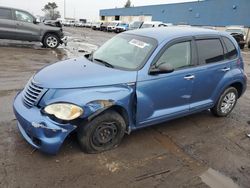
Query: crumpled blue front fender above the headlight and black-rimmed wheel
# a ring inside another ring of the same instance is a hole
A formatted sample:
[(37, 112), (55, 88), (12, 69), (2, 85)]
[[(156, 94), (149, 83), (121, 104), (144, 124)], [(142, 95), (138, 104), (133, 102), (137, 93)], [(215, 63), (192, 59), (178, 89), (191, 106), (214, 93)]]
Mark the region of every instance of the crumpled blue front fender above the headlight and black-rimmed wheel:
[(120, 84), (105, 87), (78, 89), (49, 89), (39, 105), (66, 102), (76, 104), (84, 109), (82, 119), (91, 120), (101, 112), (116, 106), (126, 111), (128, 124), (133, 124), (133, 103), (135, 97), (134, 84)]

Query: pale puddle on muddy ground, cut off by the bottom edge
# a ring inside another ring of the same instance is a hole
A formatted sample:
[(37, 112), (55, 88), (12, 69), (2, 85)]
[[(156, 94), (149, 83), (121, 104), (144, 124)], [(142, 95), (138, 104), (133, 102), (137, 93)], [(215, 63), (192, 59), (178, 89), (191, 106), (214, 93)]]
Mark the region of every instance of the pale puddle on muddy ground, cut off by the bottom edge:
[(201, 180), (211, 188), (239, 188), (232, 179), (220, 172), (209, 168), (200, 176)]

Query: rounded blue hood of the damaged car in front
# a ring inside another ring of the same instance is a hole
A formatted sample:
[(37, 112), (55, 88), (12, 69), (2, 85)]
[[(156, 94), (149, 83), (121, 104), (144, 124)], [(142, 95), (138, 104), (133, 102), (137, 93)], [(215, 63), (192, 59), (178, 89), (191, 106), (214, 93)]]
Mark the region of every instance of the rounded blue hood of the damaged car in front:
[(33, 81), (43, 88), (80, 88), (133, 83), (136, 77), (137, 71), (113, 69), (81, 57), (49, 65)]

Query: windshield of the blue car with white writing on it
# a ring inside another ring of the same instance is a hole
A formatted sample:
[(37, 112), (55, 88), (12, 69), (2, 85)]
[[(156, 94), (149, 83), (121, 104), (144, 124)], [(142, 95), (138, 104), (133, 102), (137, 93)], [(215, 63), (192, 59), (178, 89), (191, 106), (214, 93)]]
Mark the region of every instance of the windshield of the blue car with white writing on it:
[(93, 53), (93, 62), (106, 62), (109, 67), (137, 70), (149, 58), (157, 41), (148, 37), (120, 34)]

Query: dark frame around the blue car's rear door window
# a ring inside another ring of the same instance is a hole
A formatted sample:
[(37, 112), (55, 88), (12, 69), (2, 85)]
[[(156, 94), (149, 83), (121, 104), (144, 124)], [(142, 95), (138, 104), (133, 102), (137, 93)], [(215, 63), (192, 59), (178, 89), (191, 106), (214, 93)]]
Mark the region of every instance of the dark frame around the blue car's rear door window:
[[(225, 63), (225, 61), (227, 61), (228, 59), (226, 59), (226, 46), (221, 38), (220, 35), (199, 35), (199, 36), (195, 36), (195, 47), (196, 47), (196, 54), (197, 54), (197, 66), (207, 66), (207, 65), (213, 65), (213, 64), (220, 64), (220, 63)], [(201, 63), (200, 62), (200, 54), (198, 52), (198, 45), (197, 45), (197, 40), (212, 40), (212, 39), (217, 39), (220, 41), (222, 49), (223, 49), (223, 57), (224, 59), (222, 61), (218, 61), (218, 62), (214, 62), (214, 63)]]

